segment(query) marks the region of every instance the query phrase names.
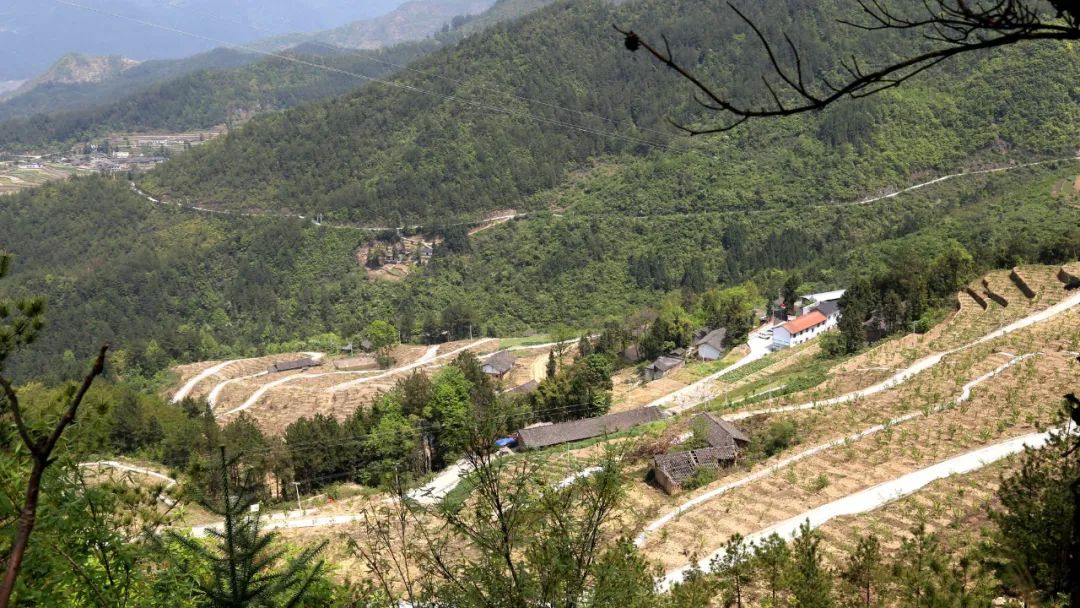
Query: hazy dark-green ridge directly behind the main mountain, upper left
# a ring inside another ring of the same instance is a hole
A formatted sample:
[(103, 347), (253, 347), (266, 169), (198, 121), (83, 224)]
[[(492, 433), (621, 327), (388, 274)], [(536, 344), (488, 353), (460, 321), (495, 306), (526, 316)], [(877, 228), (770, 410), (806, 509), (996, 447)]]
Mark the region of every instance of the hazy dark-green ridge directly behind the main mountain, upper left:
[(468, 19), (440, 21), (447, 27), (426, 40), (381, 50), (343, 49), (313, 38), (272, 56), (216, 49), (186, 59), (144, 62), (100, 82), (42, 82), (0, 102), (0, 149), (56, 147), (109, 132), (206, 129), (342, 95), (550, 2), (501, 0)]

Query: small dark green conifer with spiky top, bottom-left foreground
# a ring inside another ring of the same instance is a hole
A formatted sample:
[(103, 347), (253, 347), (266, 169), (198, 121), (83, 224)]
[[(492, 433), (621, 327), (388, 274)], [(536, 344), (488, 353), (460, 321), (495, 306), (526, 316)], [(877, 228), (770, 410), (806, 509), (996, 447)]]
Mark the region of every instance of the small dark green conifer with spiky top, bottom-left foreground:
[(262, 531), (258, 513), (251, 511), (254, 504), (252, 495), (243, 488), (233, 492), (230, 487), (230, 470), (234, 468), (235, 460), (226, 460), (225, 446), (220, 450), (219, 474), (225, 498), (221, 505), (213, 511), (225, 519), (224, 529), (207, 529), (212, 537), (208, 545), (175, 531), (166, 535), (210, 570), (211, 580), (198, 580), (195, 583), (210, 606), (293, 608), (299, 605), (322, 573), (324, 562), (320, 560), (314, 566), (310, 563), (326, 546), (326, 541), (307, 548), (296, 557), (282, 563), (285, 551), (271, 549), (276, 535)]

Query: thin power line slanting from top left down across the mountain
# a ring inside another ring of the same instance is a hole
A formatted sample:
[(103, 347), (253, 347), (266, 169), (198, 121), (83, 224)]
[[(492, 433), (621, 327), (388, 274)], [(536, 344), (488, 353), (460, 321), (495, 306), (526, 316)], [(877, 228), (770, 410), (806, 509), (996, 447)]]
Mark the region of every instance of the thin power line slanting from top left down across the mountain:
[(265, 55), (265, 56), (268, 56), (268, 57), (275, 57), (275, 58), (281, 59), (281, 60), (291, 62), (291, 63), (294, 63), (294, 64), (298, 64), (298, 65), (302, 65), (302, 66), (308, 66), (308, 67), (312, 67), (312, 68), (316, 68), (316, 69), (322, 69), (322, 70), (326, 70), (326, 71), (330, 71), (330, 72), (336, 72), (336, 73), (340, 73), (340, 75), (343, 75), (343, 76), (350, 76), (350, 77), (357, 78), (357, 79), (365, 80), (365, 81), (369, 81), (369, 82), (378, 82), (378, 83), (381, 83), (381, 84), (386, 84), (388, 86), (393, 86), (393, 87), (396, 87), (396, 89), (402, 89), (402, 90), (409, 91), (409, 92), (413, 92), (413, 93), (420, 93), (422, 95), (429, 95), (429, 96), (432, 96), (432, 97), (438, 97), (438, 98), (443, 98), (443, 99), (450, 100), (450, 102), (457, 102), (457, 103), (461, 103), (461, 104), (464, 104), (464, 105), (474, 106), (474, 107), (477, 107), (477, 108), (481, 108), (481, 109), (485, 109), (485, 110), (488, 110), (488, 111), (491, 111), (491, 112), (495, 112), (495, 113), (501, 113), (501, 114), (505, 114), (505, 116), (510, 116), (510, 117), (514, 117), (514, 118), (530, 119), (530, 120), (535, 120), (537, 122), (552, 124), (552, 125), (555, 125), (555, 126), (562, 126), (564, 129), (570, 129), (570, 130), (575, 130), (575, 131), (580, 131), (582, 133), (588, 133), (588, 134), (591, 134), (591, 135), (595, 135), (597, 137), (608, 137), (608, 138), (611, 138), (611, 139), (621, 139), (621, 140), (624, 140), (624, 141), (630, 141), (630, 143), (634, 143), (634, 144), (649, 146), (651, 148), (656, 148), (656, 149), (659, 149), (659, 150), (665, 150), (665, 151), (672, 151), (673, 150), (673, 148), (671, 146), (667, 146), (666, 144), (658, 144), (656, 141), (650, 141), (648, 139), (642, 139), (642, 138), (632, 137), (632, 136), (629, 136), (629, 135), (621, 135), (621, 134), (618, 134), (618, 133), (610, 133), (610, 132), (600, 131), (600, 130), (596, 130), (596, 129), (592, 129), (592, 127), (581, 126), (581, 125), (578, 125), (578, 124), (573, 124), (573, 123), (569, 123), (569, 122), (564, 122), (564, 121), (559, 121), (559, 120), (556, 120), (556, 119), (550, 119), (550, 118), (539, 117), (539, 116), (536, 116), (536, 114), (532, 114), (532, 113), (529, 113), (529, 112), (518, 112), (518, 111), (514, 111), (514, 110), (509, 110), (509, 109), (505, 109), (505, 108), (500, 108), (498, 106), (492, 106), (492, 105), (489, 105), (489, 104), (485, 104), (483, 102), (477, 102), (475, 99), (467, 99), (464, 97), (460, 97), (460, 96), (457, 96), (457, 95), (451, 95), (451, 94), (447, 94), (447, 93), (438, 93), (438, 92), (435, 92), (435, 91), (430, 91), (430, 90), (427, 90), (427, 89), (421, 89), (419, 86), (415, 86), (415, 85), (411, 85), (411, 84), (405, 84), (405, 83), (396, 82), (396, 81), (392, 81), (392, 80), (384, 80), (384, 79), (380, 79), (380, 78), (375, 78), (375, 77), (370, 77), (370, 76), (366, 76), (366, 75), (362, 75), (362, 73), (357, 73), (357, 72), (345, 70), (345, 69), (341, 69), (341, 68), (336, 68), (336, 67), (333, 67), (333, 66), (327, 66), (325, 64), (316, 64), (314, 62), (309, 62), (307, 59), (301, 59), (299, 57), (292, 56), (292, 55), (285, 55), (285, 54), (281, 54), (281, 53), (273, 53), (273, 52), (270, 52), (270, 51), (262, 51), (261, 49), (257, 49), (257, 48), (254, 48), (254, 46), (247, 46), (247, 45), (244, 45), (244, 44), (237, 44), (237, 43), (228, 42), (226, 40), (220, 40), (220, 39), (216, 39), (216, 38), (213, 38), (213, 37), (210, 37), (210, 36), (204, 36), (204, 35), (201, 35), (201, 33), (195, 33), (195, 32), (191, 32), (191, 31), (178, 29), (178, 28), (175, 28), (175, 27), (172, 27), (172, 26), (156, 24), (153, 22), (148, 22), (148, 21), (145, 21), (145, 19), (140, 19), (138, 17), (133, 17), (133, 16), (124, 15), (124, 14), (120, 14), (120, 13), (112, 13), (110, 11), (104, 11), (102, 9), (97, 9), (97, 8), (94, 8), (94, 6), (86, 6), (85, 4), (79, 4), (79, 3), (72, 2), (70, 0), (53, 0), (53, 1), (56, 2), (56, 3), (59, 3), (59, 4), (65, 4), (65, 5), (72, 6), (72, 8), (76, 8), (76, 9), (82, 9), (84, 11), (90, 11), (90, 12), (97, 13), (97, 14), (100, 14), (100, 15), (105, 15), (105, 16), (109, 16), (109, 17), (113, 17), (113, 18), (119, 18), (119, 19), (130, 21), (130, 22), (137, 23), (137, 24), (140, 24), (140, 25), (147, 26), (147, 27), (152, 27), (152, 28), (161, 29), (163, 31), (171, 31), (173, 33), (179, 33), (181, 36), (188, 36), (188, 37), (191, 37), (191, 38), (198, 38), (198, 39), (201, 39), (201, 40), (206, 40), (206, 41), (213, 42), (215, 44), (221, 44), (221, 45), (230, 46), (230, 48), (233, 48), (233, 49), (240, 49), (242, 51), (247, 51), (248, 53), (255, 53), (255, 54)]

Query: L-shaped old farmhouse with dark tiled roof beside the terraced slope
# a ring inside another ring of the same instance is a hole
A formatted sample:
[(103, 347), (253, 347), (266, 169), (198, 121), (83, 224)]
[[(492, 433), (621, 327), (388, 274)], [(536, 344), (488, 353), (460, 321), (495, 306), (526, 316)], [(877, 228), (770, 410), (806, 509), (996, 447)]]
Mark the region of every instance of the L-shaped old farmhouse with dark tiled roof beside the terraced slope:
[(657, 483), (667, 494), (675, 494), (701, 469), (717, 470), (734, 464), (750, 445), (746, 433), (714, 414), (699, 414), (690, 424), (704, 429), (708, 447), (662, 454), (652, 459)]

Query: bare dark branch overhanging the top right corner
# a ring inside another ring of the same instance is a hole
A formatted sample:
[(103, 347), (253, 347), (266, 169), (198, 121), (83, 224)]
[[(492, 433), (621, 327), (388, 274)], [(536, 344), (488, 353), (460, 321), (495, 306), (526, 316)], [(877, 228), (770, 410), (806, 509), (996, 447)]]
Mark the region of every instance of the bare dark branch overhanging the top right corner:
[(907, 15), (890, 9), (881, 0), (854, 0), (864, 21), (840, 23), (867, 31), (916, 30), (937, 44), (937, 48), (915, 54), (878, 69), (866, 70), (856, 57), (841, 62), (847, 82), (834, 85), (823, 76), (809, 78), (804, 60), (791, 38), (784, 43), (791, 57), (780, 52), (752, 19), (734, 4), (728, 6), (746, 23), (765, 48), (772, 66), (771, 75), (761, 75), (771, 102), (742, 104), (705, 83), (674, 56), (667, 39), (661, 36), (663, 49), (649, 43), (631, 29), (616, 26), (631, 52), (644, 49), (660, 63), (675, 70), (697, 91), (694, 99), (702, 107), (724, 114), (715, 126), (694, 129), (675, 121), (677, 129), (702, 135), (730, 131), (750, 119), (793, 116), (820, 110), (842, 98), (860, 98), (899, 86), (933, 66), (963, 53), (972, 53), (1018, 42), (1037, 40), (1080, 40), (1080, 3), (1076, 0), (926, 0), (922, 10)]

